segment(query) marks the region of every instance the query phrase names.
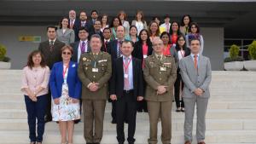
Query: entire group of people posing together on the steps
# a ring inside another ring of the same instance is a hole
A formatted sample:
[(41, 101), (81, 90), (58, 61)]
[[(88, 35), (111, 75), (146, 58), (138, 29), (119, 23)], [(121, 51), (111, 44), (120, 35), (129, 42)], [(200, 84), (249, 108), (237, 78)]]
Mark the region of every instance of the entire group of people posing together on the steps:
[(185, 112), (185, 144), (192, 142), (195, 104), (197, 141), (205, 144), (211, 64), (201, 55), (199, 26), (189, 15), (183, 16), (182, 26), (171, 24), (166, 15), (164, 24), (154, 18), (147, 27), (142, 11), (131, 26), (124, 11), (110, 25), (107, 14), (101, 19), (96, 10), (90, 14), (91, 20), (84, 11), (77, 20), (70, 10), (60, 29), (47, 27), (48, 40), (28, 56), (21, 90), (31, 144), (42, 143), (44, 124), (52, 120), (59, 124), (61, 144), (72, 144), (81, 111), (86, 143), (99, 144), (108, 100), (119, 144), (125, 142), (125, 123), (127, 141), (135, 143), (137, 112), (148, 112), (149, 144), (157, 143), (159, 122), (161, 141), (170, 144), (173, 95), (177, 112)]

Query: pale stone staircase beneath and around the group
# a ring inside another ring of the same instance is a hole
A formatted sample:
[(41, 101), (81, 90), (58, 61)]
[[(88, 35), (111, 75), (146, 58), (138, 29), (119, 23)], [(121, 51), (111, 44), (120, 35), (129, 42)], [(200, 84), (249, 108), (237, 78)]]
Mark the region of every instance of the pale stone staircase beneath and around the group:
[[(20, 73), (20, 70), (0, 70), (0, 144), (29, 143)], [(212, 72), (211, 94), (207, 109), (207, 144), (256, 144), (256, 72)], [(183, 144), (184, 114), (174, 111), (173, 103), (172, 144)], [(118, 143), (115, 124), (110, 124), (110, 112), (108, 103), (102, 144)], [(160, 131), (159, 124), (159, 140)], [(136, 143), (146, 144), (148, 134), (148, 113), (137, 113)], [(83, 135), (83, 123), (76, 124), (73, 143), (85, 144)], [(60, 139), (58, 125), (46, 124), (44, 143), (57, 144)]]

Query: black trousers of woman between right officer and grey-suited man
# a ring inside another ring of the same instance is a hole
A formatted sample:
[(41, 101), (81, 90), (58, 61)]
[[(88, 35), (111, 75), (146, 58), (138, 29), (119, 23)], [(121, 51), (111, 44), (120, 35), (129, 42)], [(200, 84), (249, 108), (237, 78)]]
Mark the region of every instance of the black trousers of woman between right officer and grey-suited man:
[(183, 101), (183, 98), (180, 96), (181, 95), (181, 92), (184, 87), (184, 84), (183, 84), (183, 80), (182, 80), (182, 77), (180, 75), (179, 72), (177, 72), (177, 79), (176, 79), (176, 82), (174, 84), (174, 95), (175, 95), (175, 102), (176, 102), (176, 107), (184, 107), (184, 101)]

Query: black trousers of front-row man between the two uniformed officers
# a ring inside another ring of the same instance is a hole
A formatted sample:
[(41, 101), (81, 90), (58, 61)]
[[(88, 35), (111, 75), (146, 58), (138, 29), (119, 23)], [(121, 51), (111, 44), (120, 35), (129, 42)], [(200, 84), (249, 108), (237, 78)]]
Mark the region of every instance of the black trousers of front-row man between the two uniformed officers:
[(117, 130), (117, 140), (119, 143), (124, 143), (125, 132), (124, 124), (127, 120), (128, 124), (128, 138), (129, 143), (134, 143), (134, 134), (136, 129), (136, 115), (137, 115), (137, 99), (134, 97), (133, 92), (130, 91), (122, 97), (118, 97), (116, 101), (116, 130)]

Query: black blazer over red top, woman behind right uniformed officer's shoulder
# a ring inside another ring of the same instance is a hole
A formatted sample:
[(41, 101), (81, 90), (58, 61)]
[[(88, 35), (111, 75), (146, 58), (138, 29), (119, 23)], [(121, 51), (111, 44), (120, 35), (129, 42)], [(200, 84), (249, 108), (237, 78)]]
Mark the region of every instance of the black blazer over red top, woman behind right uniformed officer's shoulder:
[[(152, 52), (152, 43), (150, 43), (148, 44), (148, 56), (152, 55)], [(132, 55), (139, 60), (143, 60), (143, 43), (140, 43), (139, 41), (134, 43), (134, 50), (132, 52)]]

